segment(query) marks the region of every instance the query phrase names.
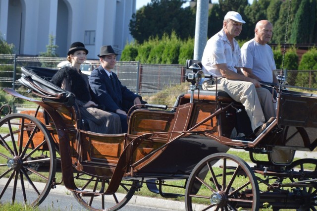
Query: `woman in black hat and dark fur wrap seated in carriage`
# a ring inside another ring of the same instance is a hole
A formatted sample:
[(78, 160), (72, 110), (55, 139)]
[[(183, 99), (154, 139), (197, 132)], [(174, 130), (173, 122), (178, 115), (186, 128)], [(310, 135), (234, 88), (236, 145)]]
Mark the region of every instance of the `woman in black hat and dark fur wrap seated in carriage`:
[(81, 42), (71, 44), (67, 60), (71, 66), (64, 66), (53, 76), (52, 82), (66, 91), (72, 92), (79, 106), (80, 114), (89, 124), (89, 130), (96, 133), (121, 133), (120, 117), (108, 111), (98, 109), (92, 101), (88, 76), (80, 71), (80, 65), (86, 60), (88, 50)]

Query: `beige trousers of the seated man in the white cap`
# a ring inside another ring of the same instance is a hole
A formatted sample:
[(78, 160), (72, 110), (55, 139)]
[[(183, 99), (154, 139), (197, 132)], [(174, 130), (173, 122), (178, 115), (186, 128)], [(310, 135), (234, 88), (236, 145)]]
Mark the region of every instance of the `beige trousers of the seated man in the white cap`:
[[(253, 131), (261, 126), (265, 119), (276, 116), (276, 105), (272, 102), (272, 94), (264, 88), (256, 88), (246, 81), (218, 78), (217, 90), (226, 92), (233, 100), (240, 102), (251, 121)], [(212, 80), (204, 82), (204, 90), (215, 90)]]

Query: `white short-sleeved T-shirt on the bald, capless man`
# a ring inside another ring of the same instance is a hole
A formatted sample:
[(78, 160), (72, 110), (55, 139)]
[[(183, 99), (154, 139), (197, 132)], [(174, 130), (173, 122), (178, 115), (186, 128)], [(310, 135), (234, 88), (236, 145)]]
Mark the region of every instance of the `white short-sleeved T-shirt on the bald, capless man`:
[(261, 81), (273, 82), (272, 71), (276, 69), (276, 65), (269, 45), (261, 45), (252, 39), (243, 44), (241, 58), (243, 67), (252, 69), (253, 74)]

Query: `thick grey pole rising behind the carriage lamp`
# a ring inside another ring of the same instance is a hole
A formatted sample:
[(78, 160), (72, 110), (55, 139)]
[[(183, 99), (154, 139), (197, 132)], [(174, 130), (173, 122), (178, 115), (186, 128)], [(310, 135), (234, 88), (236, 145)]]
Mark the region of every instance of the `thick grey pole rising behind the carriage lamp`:
[(209, 0), (197, 0), (194, 59), (202, 60), (207, 43)]

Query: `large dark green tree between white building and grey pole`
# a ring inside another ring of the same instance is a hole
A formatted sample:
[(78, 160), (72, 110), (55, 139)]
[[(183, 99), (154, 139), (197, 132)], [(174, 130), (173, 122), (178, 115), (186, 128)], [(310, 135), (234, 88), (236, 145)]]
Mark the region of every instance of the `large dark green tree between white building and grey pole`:
[(180, 39), (193, 37), (195, 33), (195, 14), (190, 7), (182, 8), (184, 0), (151, 0), (135, 14), (129, 23), (133, 38), (142, 44), (150, 37), (160, 39), (166, 33), (175, 31)]

